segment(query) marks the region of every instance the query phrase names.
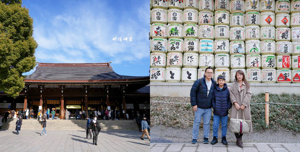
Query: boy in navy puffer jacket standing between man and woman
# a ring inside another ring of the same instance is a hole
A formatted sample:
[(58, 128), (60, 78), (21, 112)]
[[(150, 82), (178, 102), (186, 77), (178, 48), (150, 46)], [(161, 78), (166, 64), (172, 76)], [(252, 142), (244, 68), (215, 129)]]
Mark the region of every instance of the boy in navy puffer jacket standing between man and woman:
[(226, 133), (227, 133), (227, 120), (228, 111), (232, 104), (230, 101), (230, 93), (227, 89), (227, 84), (225, 83), (224, 76), (218, 76), (216, 88), (214, 89), (214, 94), (212, 97), (212, 109), (214, 109), (214, 121), (213, 121), (213, 135), (214, 138), (210, 142), (212, 145), (218, 143), (218, 129), (221, 121), (222, 125), (222, 143), (227, 145)]

